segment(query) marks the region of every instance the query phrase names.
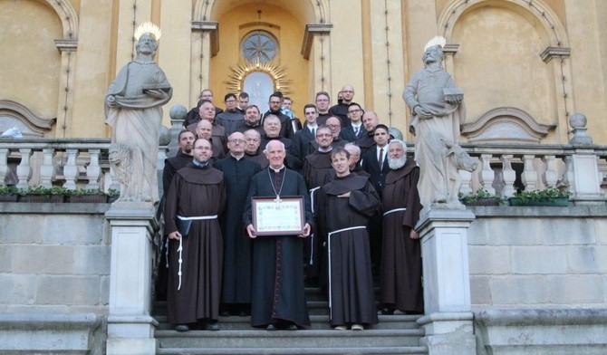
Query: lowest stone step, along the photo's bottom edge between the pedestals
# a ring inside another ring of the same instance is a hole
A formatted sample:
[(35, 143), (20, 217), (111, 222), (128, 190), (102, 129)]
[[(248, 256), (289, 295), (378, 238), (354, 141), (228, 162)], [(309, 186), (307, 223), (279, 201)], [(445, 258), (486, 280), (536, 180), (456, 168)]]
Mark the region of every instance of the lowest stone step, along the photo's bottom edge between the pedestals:
[(424, 346), (411, 347), (366, 347), (366, 348), (241, 348), (241, 349), (205, 349), (198, 348), (160, 348), (157, 354), (207, 354), (207, 355), (324, 355), (324, 354), (348, 354), (348, 355), (380, 355), (380, 354), (400, 354), (400, 355), (428, 355), (428, 348)]

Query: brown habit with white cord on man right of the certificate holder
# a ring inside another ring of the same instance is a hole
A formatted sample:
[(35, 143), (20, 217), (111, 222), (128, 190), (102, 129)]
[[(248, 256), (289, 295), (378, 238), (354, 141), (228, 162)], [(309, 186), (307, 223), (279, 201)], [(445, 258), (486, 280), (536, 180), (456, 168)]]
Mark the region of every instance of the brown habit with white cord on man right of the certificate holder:
[[(338, 197), (350, 192), (350, 197)], [(327, 235), (331, 325), (375, 324), (367, 224), (380, 206), (369, 177), (335, 177), (318, 195), (319, 229)]]

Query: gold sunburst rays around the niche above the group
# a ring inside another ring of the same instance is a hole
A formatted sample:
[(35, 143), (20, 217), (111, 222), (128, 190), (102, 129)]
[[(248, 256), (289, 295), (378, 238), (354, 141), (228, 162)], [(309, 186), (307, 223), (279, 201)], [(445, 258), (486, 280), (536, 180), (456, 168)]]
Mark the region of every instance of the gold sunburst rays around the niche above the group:
[(248, 62), (246, 64), (238, 64), (236, 68), (230, 67), (230, 70), (232, 73), (229, 75), (229, 80), (226, 81), (228, 91), (243, 91), (246, 75), (251, 72), (265, 72), (274, 81), (276, 91), (281, 91), (283, 94), (291, 92), (289, 84), (293, 81), (287, 78), (284, 68), (279, 67), (274, 62)]

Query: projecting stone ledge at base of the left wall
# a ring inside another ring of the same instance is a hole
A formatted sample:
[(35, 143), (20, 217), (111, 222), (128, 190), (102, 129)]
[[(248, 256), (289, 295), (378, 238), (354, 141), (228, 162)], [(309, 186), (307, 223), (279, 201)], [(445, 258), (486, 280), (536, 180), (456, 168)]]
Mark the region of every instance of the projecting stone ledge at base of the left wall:
[(0, 314), (0, 352), (87, 354), (102, 318), (94, 313)]

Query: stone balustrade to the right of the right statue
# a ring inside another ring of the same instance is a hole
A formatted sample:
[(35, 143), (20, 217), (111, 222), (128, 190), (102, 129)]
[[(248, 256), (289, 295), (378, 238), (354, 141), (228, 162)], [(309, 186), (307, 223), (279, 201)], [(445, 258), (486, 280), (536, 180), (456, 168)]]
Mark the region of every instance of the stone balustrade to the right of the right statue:
[(460, 192), (478, 188), (503, 197), (516, 189), (567, 188), (574, 201), (604, 201), (607, 146), (462, 143), (477, 159), (473, 172), (460, 170)]

